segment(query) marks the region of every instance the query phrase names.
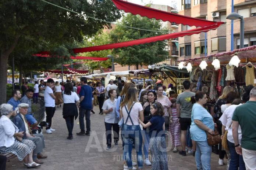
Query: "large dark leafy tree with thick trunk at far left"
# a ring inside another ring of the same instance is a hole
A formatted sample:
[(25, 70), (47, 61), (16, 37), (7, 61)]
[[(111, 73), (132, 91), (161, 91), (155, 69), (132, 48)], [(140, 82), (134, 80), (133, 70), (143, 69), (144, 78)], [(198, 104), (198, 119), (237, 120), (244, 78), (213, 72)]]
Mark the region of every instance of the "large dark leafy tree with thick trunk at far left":
[[(121, 17), (111, 0), (48, 1), (105, 21), (114, 22)], [(6, 102), (8, 57), (14, 50), (21, 50), (17, 48), (19, 44), (39, 42), (35, 49), (41, 48), (61, 56), (55, 53), (58, 50), (53, 49), (62, 49), (59, 48), (62, 44), (73, 44), (74, 41), (81, 42), (83, 37), (92, 36), (105, 26), (110, 27), (106, 22), (69, 12), (40, 0), (0, 1), (0, 25), (0, 104)], [(65, 51), (72, 54), (67, 49)]]

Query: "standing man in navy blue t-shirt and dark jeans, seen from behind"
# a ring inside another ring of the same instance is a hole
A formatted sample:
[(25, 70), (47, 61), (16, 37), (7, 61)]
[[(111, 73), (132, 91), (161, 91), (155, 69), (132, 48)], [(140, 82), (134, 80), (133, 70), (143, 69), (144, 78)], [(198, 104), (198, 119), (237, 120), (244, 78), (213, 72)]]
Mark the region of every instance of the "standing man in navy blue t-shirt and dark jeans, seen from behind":
[[(80, 105), (79, 105), (79, 125), (81, 132), (77, 135), (87, 135), (90, 136), (90, 110), (92, 109), (92, 88), (87, 85), (87, 78), (82, 77), (81, 81), (81, 91), (80, 96)], [(86, 133), (85, 133), (85, 124), (83, 118), (86, 120)]]

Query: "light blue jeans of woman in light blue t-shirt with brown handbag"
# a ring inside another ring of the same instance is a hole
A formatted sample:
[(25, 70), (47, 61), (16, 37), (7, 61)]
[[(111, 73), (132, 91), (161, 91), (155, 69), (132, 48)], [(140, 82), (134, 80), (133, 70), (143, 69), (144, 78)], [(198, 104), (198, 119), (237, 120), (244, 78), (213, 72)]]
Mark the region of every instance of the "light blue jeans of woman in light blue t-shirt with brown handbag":
[(198, 170), (211, 169), (211, 146), (206, 141), (196, 141), (196, 168)]

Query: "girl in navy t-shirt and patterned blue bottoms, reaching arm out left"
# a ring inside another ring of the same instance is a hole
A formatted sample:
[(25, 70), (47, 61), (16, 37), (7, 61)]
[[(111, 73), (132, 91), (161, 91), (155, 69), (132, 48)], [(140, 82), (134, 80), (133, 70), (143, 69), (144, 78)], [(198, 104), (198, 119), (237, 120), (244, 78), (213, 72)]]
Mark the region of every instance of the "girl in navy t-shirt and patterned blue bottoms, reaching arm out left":
[(145, 125), (140, 119), (141, 125), (149, 126), (149, 146), (152, 154), (152, 170), (168, 170), (167, 151), (165, 141), (164, 112), (161, 103), (155, 102), (150, 106), (152, 118)]

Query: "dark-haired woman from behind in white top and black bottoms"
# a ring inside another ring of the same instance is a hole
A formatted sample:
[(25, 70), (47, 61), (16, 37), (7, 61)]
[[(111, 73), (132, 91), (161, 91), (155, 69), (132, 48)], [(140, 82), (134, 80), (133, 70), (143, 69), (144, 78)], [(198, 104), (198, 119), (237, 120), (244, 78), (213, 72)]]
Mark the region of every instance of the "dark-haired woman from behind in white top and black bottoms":
[(80, 100), (77, 93), (73, 92), (73, 85), (71, 83), (67, 83), (65, 85), (65, 90), (62, 93), (63, 93), (63, 100), (64, 100), (63, 118), (65, 119), (67, 128), (68, 128), (67, 139), (72, 139), (74, 117), (75, 119), (77, 119), (78, 117), (77, 106), (79, 105)]

